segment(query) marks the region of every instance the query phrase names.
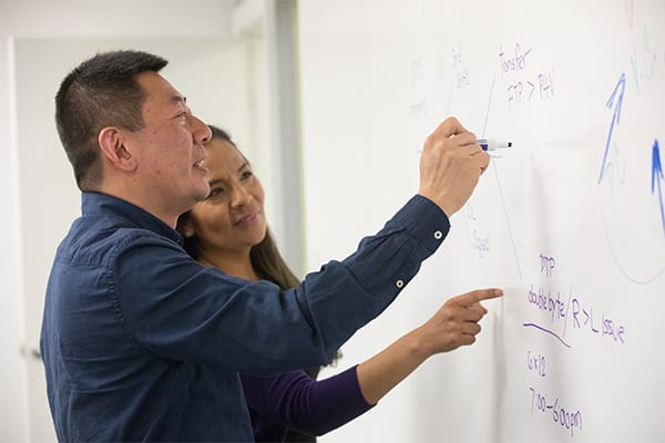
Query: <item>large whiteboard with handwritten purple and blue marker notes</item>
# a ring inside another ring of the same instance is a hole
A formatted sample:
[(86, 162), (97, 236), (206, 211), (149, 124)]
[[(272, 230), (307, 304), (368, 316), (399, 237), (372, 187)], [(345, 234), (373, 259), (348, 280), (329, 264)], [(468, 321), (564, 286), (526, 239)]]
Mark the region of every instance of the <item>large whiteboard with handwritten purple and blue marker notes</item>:
[(502, 287), (478, 342), (321, 442), (665, 441), (664, 19), (659, 0), (299, 3), (310, 269), (417, 192), (446, 116), (513, 143), (324, 377)]

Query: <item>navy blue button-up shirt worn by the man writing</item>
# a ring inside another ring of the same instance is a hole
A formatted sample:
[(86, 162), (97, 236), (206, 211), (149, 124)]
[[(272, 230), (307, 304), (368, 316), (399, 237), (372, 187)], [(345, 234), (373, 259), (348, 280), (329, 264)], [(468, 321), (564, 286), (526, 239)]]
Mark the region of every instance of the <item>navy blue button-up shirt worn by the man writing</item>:
[(328, 362), (448, 230), (415, 196), (355, 254), (280, 291), (201, 266), (158, 218), (84, 193), (55, 254), (41, 331), (58, 439), (252, 441), (238, 372)]

